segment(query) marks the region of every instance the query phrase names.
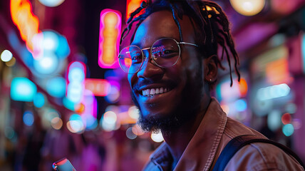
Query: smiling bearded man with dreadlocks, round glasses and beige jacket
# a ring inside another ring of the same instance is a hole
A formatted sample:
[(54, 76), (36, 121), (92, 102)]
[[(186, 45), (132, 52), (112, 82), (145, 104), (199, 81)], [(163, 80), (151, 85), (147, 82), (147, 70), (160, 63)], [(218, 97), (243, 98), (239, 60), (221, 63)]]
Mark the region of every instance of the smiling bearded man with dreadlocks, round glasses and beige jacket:
[[(139, 14), (136, 18), (135, 15)], [(239, 135), (263, 135), (227, 118), (211, 98), (220, 61), (238, 63), (229, 23), (210, 1), (143, 2), (125, 31), (135, 31), (130, 46), (119, 55), (128, 73), (139, 123), (144, 130), (162, 132), (165, 142), (144, 170), (212, 170), (227, 142)], [(125, 31), (123, 38), (125, 38)], [(127, 34), (128, 34), (127, 33)], [(220, 56), (218, 57), (220, 47)], [(232, 78), (232, 77), (231, 77)], [(226, 170), (303, 170), (278, 147), (253, 143), (239, 150)]]

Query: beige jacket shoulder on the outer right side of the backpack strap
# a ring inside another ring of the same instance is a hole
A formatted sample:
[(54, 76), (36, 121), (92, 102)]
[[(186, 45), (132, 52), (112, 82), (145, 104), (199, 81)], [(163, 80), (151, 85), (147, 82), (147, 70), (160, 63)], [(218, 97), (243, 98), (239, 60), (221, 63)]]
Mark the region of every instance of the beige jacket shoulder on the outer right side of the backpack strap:
[(255, 142), (242, 147), (225, 170), (304, 170), (294, 157), (275, 145)]

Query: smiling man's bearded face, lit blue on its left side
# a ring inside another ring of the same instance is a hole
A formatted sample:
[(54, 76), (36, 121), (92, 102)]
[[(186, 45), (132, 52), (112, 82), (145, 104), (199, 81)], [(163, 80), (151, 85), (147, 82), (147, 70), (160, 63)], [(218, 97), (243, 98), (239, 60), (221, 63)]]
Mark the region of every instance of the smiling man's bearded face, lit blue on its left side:
[[(194, 28), (187, 16), (180, 20), (180, 26), (183, 41), (195, 43)], [(148, 48), (160, 38), (180, 41), (170, 11), (157, 11), (148, 16), (138, 27), (132, 45)], [(180, 48), (180, 59), (175, 66), (156, 66), (148, 49), (143, 53), (149, 60), (138, 73), (128, 74), (133, 100), (140, 109), (140, 125), (145, 130), (171, 130), (192, 117), (200, 107), (205, 92), (202, 60), (196, 46), (180, 44)]]

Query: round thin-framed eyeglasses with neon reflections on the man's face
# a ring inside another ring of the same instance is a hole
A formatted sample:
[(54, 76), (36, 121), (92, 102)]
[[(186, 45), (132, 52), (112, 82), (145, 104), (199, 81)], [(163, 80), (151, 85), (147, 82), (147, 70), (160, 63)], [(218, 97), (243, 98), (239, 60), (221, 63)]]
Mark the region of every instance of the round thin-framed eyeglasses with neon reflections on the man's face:
[(150, 49), (150, 55), (153, 63), (161, 68), (174, 66), (180, 58), (180, 44), (187, 44), (196, 46), (193, 43), (177, 42), (173, 38), (160, 38), (153, 43), (151, 48), (139, 48), (138, 46), (127, 46), (120, 51), (118, 55), (118, 62), (120, 68), (125, 73), (137, 73), (143, 66), (143, 62), (148, 59), (144, 56), (143, 50)]

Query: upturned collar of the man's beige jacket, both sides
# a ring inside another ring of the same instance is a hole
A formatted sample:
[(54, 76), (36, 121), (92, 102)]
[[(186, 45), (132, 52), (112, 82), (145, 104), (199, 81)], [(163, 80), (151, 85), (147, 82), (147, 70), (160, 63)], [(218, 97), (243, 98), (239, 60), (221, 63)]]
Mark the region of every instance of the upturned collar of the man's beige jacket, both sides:
[[(202, 122), (180, 157), (175, 170), (209, 170), (226, 123), (227, 115), (217, 100), (212, 98)], [(163, 142), (150, 156), (150, 160), (157, 162), (163, 170), (168, 170), (172, 163), (171, 156), (166, 142)]]

